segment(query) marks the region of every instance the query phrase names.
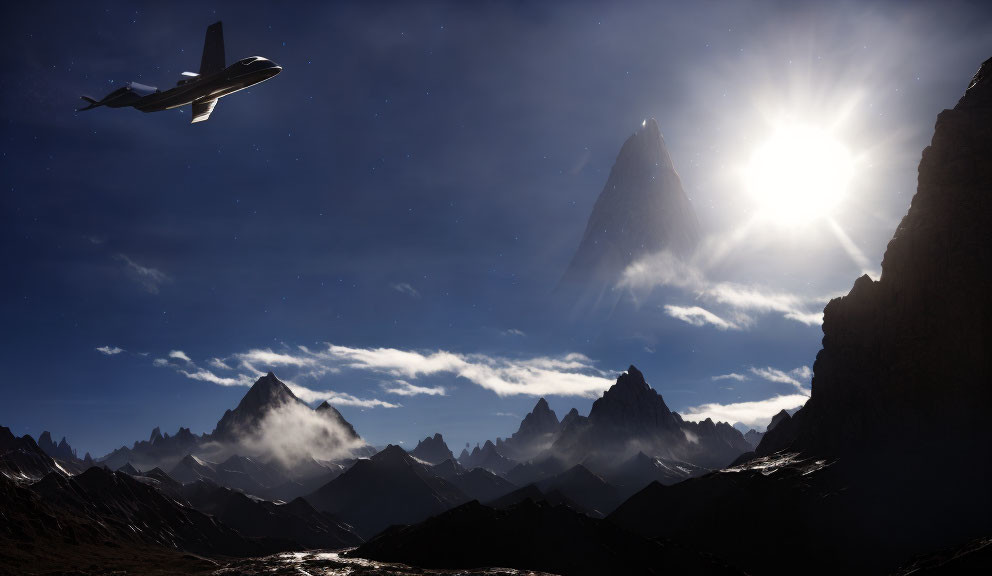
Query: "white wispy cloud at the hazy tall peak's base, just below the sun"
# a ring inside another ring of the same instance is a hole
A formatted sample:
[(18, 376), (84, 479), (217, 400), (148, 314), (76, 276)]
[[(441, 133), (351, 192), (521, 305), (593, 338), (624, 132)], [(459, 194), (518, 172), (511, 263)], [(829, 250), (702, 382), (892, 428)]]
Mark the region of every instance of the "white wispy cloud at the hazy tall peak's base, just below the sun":
[[(700, 259), (704, 257), (697, 258)], [(802, 297), (758, 285), (714, 282), (693, 263), (684, 262), (667, 251), (633, 262), (623, 271), (618, 283), (618, 287), (632, 292), (650, 292), (660, 286), (679, 288), (704, 303), (726, 308), (726, 314), (717, 315), (701, 306), (665, 306), (665, 312), (673, 318), (693, 326), (709, 324), (721, 330), (747, 328), (754, 322), (752, 314), (769, 313), (777, 313), (806, 325), (819, 325), (823, 322), (823, 306), (829, 300), (827, 297)]]

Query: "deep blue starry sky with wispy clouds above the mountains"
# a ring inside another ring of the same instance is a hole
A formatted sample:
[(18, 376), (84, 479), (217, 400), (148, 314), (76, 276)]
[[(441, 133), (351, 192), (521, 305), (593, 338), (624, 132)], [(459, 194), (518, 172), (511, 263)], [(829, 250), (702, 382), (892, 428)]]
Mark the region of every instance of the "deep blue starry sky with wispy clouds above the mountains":
[[(283, 72), (196, 125), (75, 111), (173, 86), (217, 20), (228, 62)], [(634, 364), (686, 417), (760, 427), (809, 395), (822, 306), (878, 277), (990, 24), (963, 2), (19, 3), (0, 424), (102, 455), (210, 432), (272, 370), (372, 444), (458, 452), (540, 396), (588, 413)], [(566, 319), (554, 288), (647, 118), (700, 255), (645, 257), (613, 317)], [(842, 182), (769, 144), (790, 126), (843, 148)], [(754, 194), (789, 170), (829, 213)]]

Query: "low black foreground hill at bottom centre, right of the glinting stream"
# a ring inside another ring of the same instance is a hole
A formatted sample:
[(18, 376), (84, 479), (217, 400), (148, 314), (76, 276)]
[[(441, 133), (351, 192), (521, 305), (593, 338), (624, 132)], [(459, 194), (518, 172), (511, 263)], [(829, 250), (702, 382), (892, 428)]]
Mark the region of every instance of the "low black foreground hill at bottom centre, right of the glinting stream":
[(415, 526), (390, 528), (349, 555), (431, 568), (506, 566), (564, 575), (736, 573), (566, 506), (532, 500), (503, 510), (469, 502)]

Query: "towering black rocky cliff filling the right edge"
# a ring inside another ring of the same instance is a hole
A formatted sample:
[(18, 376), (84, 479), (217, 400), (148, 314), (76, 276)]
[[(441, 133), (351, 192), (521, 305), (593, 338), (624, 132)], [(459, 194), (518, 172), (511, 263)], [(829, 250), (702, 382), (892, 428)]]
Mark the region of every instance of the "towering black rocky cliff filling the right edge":
[(611, 519), (751, 573), (891, 573), (992, 534), (990, 135), (992, 59), (938, 116), (880, 279), (827, 304), (802, 410), (739, 468), (652, 484)]

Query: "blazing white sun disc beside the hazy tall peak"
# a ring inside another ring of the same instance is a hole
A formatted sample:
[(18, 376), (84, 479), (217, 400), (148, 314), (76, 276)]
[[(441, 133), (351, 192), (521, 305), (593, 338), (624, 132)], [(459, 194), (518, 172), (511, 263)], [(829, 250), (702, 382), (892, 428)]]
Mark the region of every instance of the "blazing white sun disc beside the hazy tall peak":
[(809, 125), (781, 126), (751, 155), (747, 191), (768, 220), (809, 224), (836, 211), (853, 169), (848, 149), (827, 132)]

